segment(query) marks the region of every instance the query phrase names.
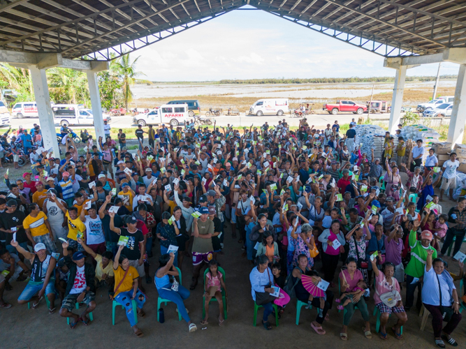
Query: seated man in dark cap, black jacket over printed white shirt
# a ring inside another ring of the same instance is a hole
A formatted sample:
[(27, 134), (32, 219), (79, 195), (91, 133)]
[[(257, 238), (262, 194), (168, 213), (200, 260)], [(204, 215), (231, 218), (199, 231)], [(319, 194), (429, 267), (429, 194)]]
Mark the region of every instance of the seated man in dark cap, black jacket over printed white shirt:
[[(65, 298), (61, 302), (60, 315), (64, 318), (73, 318), (70, 322), (70, 327), (73, 329), (78, 325), (79, 321), (87, 326), (89, 319), (87, 314), (96, 309), (96, 283), (94, 267), (92, 264), (85, 263), (85, 257), (82, 252), (73, 253), (73, 260), (68, 255), (68, 242), (61, 244), (63, 247), (63, 255), (65, 265), (70, 270), (68, 283), (66, 284)], [(87, 305), (81, 315), (73, 313), (76, 303), (84, 303)]]

